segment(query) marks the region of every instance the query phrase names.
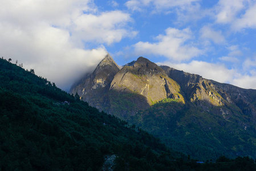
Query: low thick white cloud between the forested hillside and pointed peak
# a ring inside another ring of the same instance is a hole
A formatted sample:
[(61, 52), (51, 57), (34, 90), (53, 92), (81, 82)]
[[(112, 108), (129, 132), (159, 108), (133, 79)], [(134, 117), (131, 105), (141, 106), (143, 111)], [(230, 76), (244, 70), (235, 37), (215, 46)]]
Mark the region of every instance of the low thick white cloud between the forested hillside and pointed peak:
[(6, 26), (0, 27), (0, 32), (4, 58), (18, 60), (24, 68), (33, 68), (36, 75), (65, 90), (107, 54), (104, 47), (96, 50), (77, 48), (70, 42), (68, 31), (48, 25), (39, 25), (31, 32)]

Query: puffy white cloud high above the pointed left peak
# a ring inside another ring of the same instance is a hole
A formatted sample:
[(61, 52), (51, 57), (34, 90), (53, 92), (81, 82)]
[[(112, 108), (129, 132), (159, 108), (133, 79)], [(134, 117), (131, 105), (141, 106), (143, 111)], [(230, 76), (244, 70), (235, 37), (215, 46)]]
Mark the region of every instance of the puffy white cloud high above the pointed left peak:
[(83, 14), (74, 20), (73, 36), (87, 42), (112, 44), (124, 37), (132, 37), (136, 31), (129, 31), (125, 26), (131, 21), (129, 14), (122, 11), (109, 11), (100, 15)]

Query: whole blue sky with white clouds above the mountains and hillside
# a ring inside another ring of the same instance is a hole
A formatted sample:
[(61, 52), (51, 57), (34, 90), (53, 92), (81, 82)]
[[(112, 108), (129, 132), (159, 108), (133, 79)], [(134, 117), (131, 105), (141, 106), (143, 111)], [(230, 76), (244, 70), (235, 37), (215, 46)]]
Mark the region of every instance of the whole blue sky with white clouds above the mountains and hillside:
[(256, 89), (256, 1), (0, 2), (0, 52), (67, 90), (109, 52)]

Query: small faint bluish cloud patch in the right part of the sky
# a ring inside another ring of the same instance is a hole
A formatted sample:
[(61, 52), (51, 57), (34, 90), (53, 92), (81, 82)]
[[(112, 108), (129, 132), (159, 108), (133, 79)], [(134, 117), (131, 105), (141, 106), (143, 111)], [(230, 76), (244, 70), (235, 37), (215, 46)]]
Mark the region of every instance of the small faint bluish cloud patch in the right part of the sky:
[(222, 44), (222, 43), (226, 42), (226, 40), (220, 30), (215, 31), (215, 30), (213, 30), (213, 28), (211, 28), (209, 26), (204, 26), (201, 28), (200, 32), (201, 32), (201, 38), (210, 39), (214, 43)]

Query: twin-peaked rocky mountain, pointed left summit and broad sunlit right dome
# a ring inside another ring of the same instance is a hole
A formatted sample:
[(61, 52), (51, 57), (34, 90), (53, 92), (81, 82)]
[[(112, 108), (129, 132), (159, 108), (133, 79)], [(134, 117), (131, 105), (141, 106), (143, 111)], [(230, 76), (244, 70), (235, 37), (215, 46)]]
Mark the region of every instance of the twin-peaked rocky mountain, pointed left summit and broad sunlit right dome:
[(92, 74), (71, 87), (70, 93), (78, 92), (90, 105), (124, 119), (168, 97), (184, 101), (179, 89), (162, 68), (146, 58), (120, 70), (107, 55)]

